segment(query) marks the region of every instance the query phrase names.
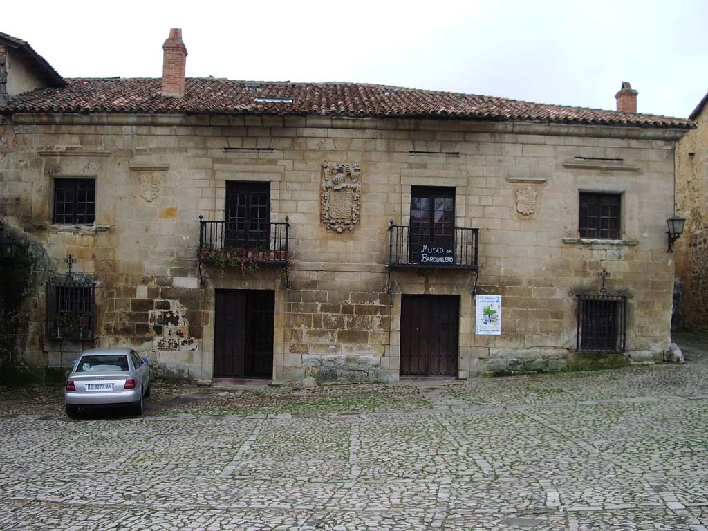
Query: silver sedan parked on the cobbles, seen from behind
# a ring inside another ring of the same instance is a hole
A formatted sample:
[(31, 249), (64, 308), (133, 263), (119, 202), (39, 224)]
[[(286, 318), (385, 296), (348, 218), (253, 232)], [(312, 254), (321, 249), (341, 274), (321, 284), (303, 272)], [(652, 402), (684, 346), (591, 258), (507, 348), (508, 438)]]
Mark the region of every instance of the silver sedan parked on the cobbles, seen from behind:
[(130, 348), (85, 350), (67, 379), (67, 416), (77, 416), (80, 408), (110, 406), (130, 406), (142, 415), (143, 397), (150, 394), (148, 362)]

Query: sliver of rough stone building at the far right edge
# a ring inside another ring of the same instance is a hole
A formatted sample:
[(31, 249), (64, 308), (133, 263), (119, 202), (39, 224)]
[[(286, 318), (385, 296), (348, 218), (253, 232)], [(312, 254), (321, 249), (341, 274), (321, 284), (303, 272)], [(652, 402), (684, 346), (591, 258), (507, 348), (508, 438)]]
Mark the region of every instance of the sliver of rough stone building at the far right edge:
[(676, 203), (686, 218), (676, 243), (676, 275), (681, 282), (680, 325), (708, 331), (708, 94), (690, 115), (697, 127), (676, 148)]

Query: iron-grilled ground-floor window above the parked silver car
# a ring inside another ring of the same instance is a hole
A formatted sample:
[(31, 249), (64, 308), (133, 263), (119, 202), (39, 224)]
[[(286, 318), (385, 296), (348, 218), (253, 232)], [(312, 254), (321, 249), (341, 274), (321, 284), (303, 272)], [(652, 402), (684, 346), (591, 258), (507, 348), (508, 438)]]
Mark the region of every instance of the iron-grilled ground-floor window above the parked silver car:
[(96, 331), (96, 283), (71, 279), (47, 282), (45, 333), (51, 339), (89, 341)]

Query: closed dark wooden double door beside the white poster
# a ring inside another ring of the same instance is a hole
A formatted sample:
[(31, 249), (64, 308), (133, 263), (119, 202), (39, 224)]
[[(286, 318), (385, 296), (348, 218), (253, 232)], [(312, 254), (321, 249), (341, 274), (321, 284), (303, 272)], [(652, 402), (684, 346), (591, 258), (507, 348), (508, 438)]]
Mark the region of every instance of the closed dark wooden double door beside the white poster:
[(401, 376), (457, 376), (459, 296), (403, 295)]

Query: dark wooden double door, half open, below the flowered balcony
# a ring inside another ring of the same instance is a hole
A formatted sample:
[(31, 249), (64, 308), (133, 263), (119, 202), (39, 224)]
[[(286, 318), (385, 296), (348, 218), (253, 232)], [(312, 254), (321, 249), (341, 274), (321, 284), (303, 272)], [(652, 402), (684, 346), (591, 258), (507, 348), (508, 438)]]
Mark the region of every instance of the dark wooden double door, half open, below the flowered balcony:
[(273, 377), (275, 292), (217, 290), (215, 378)]

